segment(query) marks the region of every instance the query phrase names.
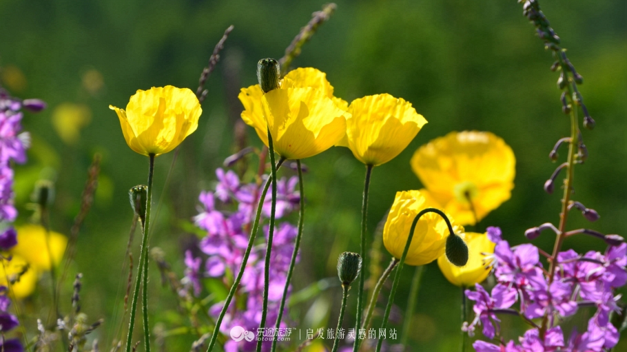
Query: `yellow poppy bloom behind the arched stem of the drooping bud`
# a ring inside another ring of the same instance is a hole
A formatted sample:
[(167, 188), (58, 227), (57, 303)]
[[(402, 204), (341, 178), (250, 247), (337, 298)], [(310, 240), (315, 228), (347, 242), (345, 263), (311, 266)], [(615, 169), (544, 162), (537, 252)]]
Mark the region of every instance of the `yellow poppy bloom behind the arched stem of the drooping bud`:
[[(418, 213), (425, 208), (432, 207), (420, 194), (420, 191), (397, 192), (394, 203), (383, 227), (383, 245), (392, 256), (400, 259), (402, 256), (411, 223)], [(453, 225), (455, 234), (464, 232), (464, 228), (455, 225), (455, 220), (446, 216)], [(425, 265), (440, 258), (446, 250), (446, 238), (449, 236), (449, 227), (444, 219), (435, 213), (424, 214), (413, 231), (413, 238), (405, 264)]]

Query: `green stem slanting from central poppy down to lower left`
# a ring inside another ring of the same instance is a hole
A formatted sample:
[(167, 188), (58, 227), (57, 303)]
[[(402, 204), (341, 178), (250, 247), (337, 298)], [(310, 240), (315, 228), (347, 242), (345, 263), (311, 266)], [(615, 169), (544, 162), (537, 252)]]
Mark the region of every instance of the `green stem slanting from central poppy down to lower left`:
[[(280, 158), (278, 163), (276, 164), (276, 169), (280, 169), (282, 163), (285, 161), (284, 158)], [(265, 196), (268, 193), (268, 189), (272, 183), (272, 176), (270, 176), (263, 187), (263, 191), (261, 191), (261, 196), (259, 197), (259, 202), (257, 203), (257, 213), (255, 214), (255, 220), (253, 222), (253, 227), (250, 231), (250, 239), (248, 240), (248, 247), (246, 247), (246, 251), (244, 252), (244, 257), (242, 258), (242, 264), (240, 265), (240, 271), (231, 286), (229, 291), (229, 296), (224, 302), (222, 310), (220, 311), (220, 315), (218, 315), (218, 319), (216, 320), (216, 327), (214, 328), (214, 332), (212, 334), (212, 338), (209, 341), (209, 346), (207, 347), (207, 352), (211, 352), (214, 349), (214, 345), (216, 344), (216, 340), (218, 339), (218, 335), (220, 335), (220, 326), (222, 325), (222, 320), (224, 319), (224, 315), (227, 313), (227, 309), (229, 309), (229, 305), (231, 304), (231, 300), (233, 300), (233, 296), (235, 296), (235, 292), (242, 280), (242, 276), (244, 275), (244, 269), (246, 269), (246, 264), (248, 262), (248, 258), (250, 256), (250, 251), (253, 249), (255, 244), (255, 238), (257, 236), (257, 230), (259, 229), (259, 219), (261, 218), (261, 210), (263, 209), (263, 202), (265, 200)]]

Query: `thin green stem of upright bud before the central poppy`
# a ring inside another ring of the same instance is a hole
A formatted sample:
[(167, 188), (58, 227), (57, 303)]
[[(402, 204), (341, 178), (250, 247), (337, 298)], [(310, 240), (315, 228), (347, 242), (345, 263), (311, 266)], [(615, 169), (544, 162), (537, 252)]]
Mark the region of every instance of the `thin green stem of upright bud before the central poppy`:
[[(272, 134), (268, 127), (268, 154), (270, 156), (270, 172), (272, 178), (272, 205), (270, 208), (270, 224), (268, 230), (268, 244), (265, 251), (265, 265), (263, 273), (263, 311), (261, 312), (261, 322), (259, 328), (261, 331), (265, 328), (265, 320), (268, 315), (268, 290), (270, 286), (270, 256), (272, 255), (272, 240), (274, 240), (274, 220), (276, 212), (276, 165), (274, 165), (274, 144), (272, 142)], [(257, 352), (261, 352), (263, 338), (257, 340)]]

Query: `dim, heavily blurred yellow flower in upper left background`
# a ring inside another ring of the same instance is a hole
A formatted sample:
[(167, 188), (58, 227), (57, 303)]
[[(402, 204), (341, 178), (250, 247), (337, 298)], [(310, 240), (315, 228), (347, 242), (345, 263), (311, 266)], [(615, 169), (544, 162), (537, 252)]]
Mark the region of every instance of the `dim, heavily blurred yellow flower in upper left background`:
[(75, 145), (81, 129), (92, 121), (92, 110), (84, 104), (61, 103), (52, 112), (52, 126), (65, 144)]

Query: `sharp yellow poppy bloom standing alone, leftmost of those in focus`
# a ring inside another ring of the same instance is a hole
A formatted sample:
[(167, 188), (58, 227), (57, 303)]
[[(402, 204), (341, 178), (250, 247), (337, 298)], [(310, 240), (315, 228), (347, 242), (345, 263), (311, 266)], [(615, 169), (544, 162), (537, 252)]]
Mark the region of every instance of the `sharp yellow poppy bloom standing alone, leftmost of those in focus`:
[(187, 88), (152, 87), (131, 96), (126, 110), (109, 105), (120, 118), (128, 146), (143, 155), (164, 154), (196, 131), (203, 110)]

